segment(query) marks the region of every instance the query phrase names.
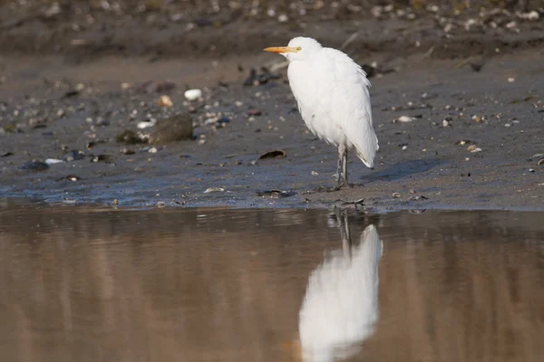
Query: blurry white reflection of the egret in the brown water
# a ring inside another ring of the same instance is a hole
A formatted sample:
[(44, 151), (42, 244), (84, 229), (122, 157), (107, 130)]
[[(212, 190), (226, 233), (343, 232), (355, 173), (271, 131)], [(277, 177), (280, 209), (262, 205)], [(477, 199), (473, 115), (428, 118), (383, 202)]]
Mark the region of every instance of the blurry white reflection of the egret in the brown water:
[(298, 321), (304, 361), (352, 356), (357, 344), (374, 333), (382, 241), (369, 225), (352, 247), (346, 219), (341, 224), (344, 250), (319, 265), (308, 281)]

